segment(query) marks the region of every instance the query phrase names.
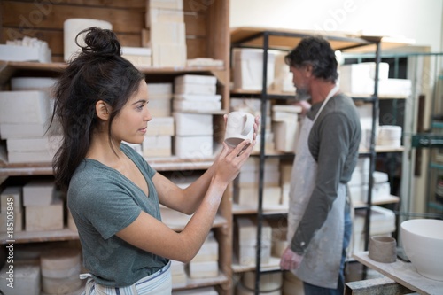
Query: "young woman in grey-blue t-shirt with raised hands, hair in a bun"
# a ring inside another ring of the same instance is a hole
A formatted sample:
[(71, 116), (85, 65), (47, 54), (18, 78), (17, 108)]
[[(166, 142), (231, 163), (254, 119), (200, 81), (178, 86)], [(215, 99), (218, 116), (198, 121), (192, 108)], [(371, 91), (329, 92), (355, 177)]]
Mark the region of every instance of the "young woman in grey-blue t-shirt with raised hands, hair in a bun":
[[(82, 52), (56, 88), (54, 115), (64, 141), (53, 167), (67, 189), (90, 271), (86, 294), (170, 294), (169, 260), (189, 262), (197, 254), (255, 134), (235, 149), (223, 144), (205, 174), (178, 188), (121, 143), (141, 144), (152, 119), (144, 75), (121, 58), (112, 31), (91, 27), (84, 33)], [(159, 203), (194, 215), (177, 233), (161, 222)]]

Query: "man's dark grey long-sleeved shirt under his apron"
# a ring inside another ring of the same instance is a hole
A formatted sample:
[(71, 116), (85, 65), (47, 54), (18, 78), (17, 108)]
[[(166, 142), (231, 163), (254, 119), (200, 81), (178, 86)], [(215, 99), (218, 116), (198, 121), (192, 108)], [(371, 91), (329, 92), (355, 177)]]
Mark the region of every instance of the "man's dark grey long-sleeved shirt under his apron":
[[(312, 105), (307, 117), (314, 120), (321, 105)], [(353, 100), (343, 94), (332, 97), (309, 133), (307, 144), (318, 165), (315, 189), (292, 238), (292, 251), (303, 254), (315, 231), (322, 228), (337, 198), (338, 183), (351, 179), (360, 142), (360, 118)]]

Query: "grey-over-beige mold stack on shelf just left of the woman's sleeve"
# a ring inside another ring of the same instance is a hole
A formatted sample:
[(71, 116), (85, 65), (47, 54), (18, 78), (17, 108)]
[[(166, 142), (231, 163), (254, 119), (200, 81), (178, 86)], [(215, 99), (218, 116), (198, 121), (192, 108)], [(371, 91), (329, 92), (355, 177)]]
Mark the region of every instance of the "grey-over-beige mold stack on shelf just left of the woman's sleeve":
[(63, 201), (53, 181), (27, 182), (23, 186), (23, 206), (27, 231), (63, 229)]

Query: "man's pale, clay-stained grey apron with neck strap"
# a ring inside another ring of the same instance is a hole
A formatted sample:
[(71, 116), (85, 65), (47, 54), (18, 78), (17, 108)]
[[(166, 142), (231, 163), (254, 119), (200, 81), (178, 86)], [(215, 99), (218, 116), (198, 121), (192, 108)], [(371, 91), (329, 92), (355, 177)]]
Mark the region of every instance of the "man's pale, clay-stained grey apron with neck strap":
[[(336, 86), (330, 90), (328, 97), (315, 115), (314, 120), (307, 117), (303, 119), (296, 145), (296, 157), (291, 172), (290, 206), (288, 213), (288, 241), (299, 227), (307, 204), (315, 188), (317, 163), (312, 157), (307, 140), (311, 128), (324, 105), (338, 90)], [(338, 284), (338, 274), (343, 248), (344, 212), (346, 204), (346, 185), (338, 185), (338, 196), (332, 204), (330, 213), (321, 229), (315, 232), (307, 246), (307, 251), (299, 268), (292, 272), (303, 282), (314, 284), (323, 288), (335, 289)]]

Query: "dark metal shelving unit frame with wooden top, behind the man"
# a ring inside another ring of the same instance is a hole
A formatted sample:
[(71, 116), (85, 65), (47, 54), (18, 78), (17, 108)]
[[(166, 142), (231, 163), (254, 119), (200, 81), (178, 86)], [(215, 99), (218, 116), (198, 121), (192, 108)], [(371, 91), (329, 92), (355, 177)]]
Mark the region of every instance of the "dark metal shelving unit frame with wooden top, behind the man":
[[(238, 28), (231, 32), (231, 50), (232, 48), (260, 48), (263, 50), (263, 69), (262, 69), (262, 87), (260, 96), (257, 97), (261, 101), (261, 123), (260, 123), (260, 167), (259, 167), (259, 196), (258, 196), (258, 208), (257, 208), (257, 245), (256, 245), (256, 263), (255, 263), (255, 294), (260, 293), (260, 274), (265, 272), (280, 271), (279, 268), (267, 268), (262, 269), (260, 265), (260, 248), (261, 248), (261, 229), (265, 213), (262, 208), (263, 201), (263, 177), (264, 177), (264, 163), (267, 155), (265, 153), (265, 133), (266, 133), (266, 110), (267, 104), (272, 99), (293, 99), (287, 95), (276, 95), (268, 93), (267, 85), (267, 73), (268, 73), (268, 50), (291, 50), (294, 48), (301, 38), (307, 35), (316, 35), (318, 33), (313, 32), (297, 32), (287, 30), (272, 30), (272, 29), (260, 29), (260, 28)], [(373, 122), (372, 128), (375, 129), (375, 114), (378, 109), (378, 97), (377, 97), (377, 76), (378, 65), (380, 62), (381, 51), (381, 37), (361, 38), (361, 37), (349, 37), (346, 35), (324, 35), (330, 42), (334, 50), (351, 50), (359, 47), (372, 47), (375, 46), (376, 54), (376, 83), (374, 88), (374, 94), (370, 97), (355, 97), (355, 100), (362, 100), (372, 103)], [(232, 55), (231, 55), (232, 56)], [(231, 97), (235, 97), (235, 93), (231, 93)], [(369, 224), (370, 224), (370, 211), (372, 205), (372, 188), (373, 178), (372, 174), (375, 170), (375, 158), (376, 158), (376, 146), (375, 146), (375, 134), (372, 133), (370, 139), (369, 150), (361, 153), (361, 157), (369, 157), (369, 192), (368, 202), (366, 206), (362, 206), (361, 209), (367, 210), (365, 221), (365, 250), (369, 241)]]

